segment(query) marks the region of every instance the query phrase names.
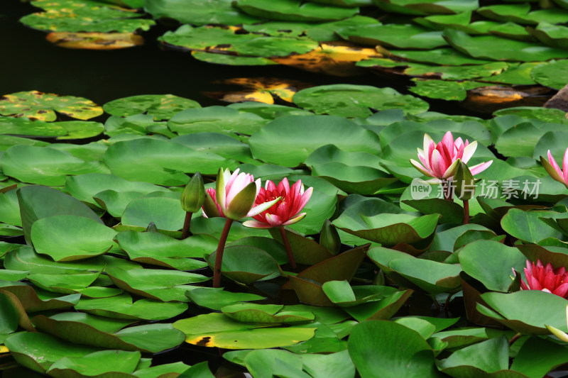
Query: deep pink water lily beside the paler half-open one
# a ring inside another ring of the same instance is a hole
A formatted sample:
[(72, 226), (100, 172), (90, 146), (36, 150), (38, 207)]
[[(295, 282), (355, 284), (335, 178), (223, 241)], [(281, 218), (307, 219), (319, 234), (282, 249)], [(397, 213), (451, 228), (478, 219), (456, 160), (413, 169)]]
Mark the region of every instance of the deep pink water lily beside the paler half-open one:
[(272, 228), (296, 223), (306, 216), (306, 213), (300, 213), (300, 211), (310, 200), (313, 190), (314, 188), (308, 188), (304, 191), (302, 180), (295, 182), (291, 188), (285, 177), (278, 187), (268, 180), (265, 187), (261, 188), (258, 193), (254, 204), (260, 206), (273, 199), (279, 198), (279, 200), (270, 209), (253, 216), (254, 221), (246, 221), (243, 225), (252, 228)]

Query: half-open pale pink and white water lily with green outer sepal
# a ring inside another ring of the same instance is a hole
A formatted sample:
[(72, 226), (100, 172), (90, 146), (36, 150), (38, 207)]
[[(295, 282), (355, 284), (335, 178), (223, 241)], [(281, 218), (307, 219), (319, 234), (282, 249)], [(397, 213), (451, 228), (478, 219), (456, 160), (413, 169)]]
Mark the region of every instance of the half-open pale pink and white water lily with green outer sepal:
[[(253, 187), (253, 188), (252, 188)], [(262, 213), (278, 199), (255, 205), (261, 179), (254, 181), (252, 174), (241, 172), (237, 168), (231, 174), (229, 169), (219, 169), (216, 189), (207, 189), (203, 214), (206, 218), (222, 216), (238, 221), (246, 216)]]

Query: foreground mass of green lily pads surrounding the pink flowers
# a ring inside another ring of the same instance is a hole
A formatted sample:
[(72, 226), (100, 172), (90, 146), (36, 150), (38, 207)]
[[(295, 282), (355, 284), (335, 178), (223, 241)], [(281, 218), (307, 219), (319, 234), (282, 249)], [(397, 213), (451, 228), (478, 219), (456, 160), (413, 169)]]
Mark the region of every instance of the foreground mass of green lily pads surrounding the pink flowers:
[[(524, 269), (568, 266), (568, 189), (545, 163), (567, 148), (564, 113), (447, 116), (349, 88), (300, 91), (297, 107), (2, 97), (0, 358), (148, 378), (210, 378), (217, 366), (197, 355), (209, 348), (253, 377), (537, 378), (568, 363), (567, 299), (530, 290)], [(493, 161), (474, 171), (466, 224), (464, 202), (410, 164), (425, 133), (447, 130), (476, 141), (452, 156)], [(187, 182), (200, 172), (211, 193), (220, 168), (313, 188), (283, 233), (232, 224), (226, 289), (210, 282), (225, 218), (193, 209), (182, 238)], [(178, 362), (156, 363), (163, 352)]]

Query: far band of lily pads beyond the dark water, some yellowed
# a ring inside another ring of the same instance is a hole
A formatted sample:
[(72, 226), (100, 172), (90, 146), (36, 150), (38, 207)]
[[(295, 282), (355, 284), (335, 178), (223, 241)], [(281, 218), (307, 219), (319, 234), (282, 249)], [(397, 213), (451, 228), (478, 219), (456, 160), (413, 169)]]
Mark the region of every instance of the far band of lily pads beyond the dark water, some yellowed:
[[(124, 48), (158, 21), (158, 40), (223, 65), (404, 75), (431, 99), (542, 101), (568, 82), (568, 3), (478, 0), (35, 0), (21, 18), (68, 48)], [(151, 19), (153, 18), (153, 19)], [(167, 23), (167, 22), (166, 22)], [(168, 25), (171, 25), (169, 23)], [(175, 24), (174, 24), (175, 25)], [(359, 71), (358, 71), (359, 70)]]

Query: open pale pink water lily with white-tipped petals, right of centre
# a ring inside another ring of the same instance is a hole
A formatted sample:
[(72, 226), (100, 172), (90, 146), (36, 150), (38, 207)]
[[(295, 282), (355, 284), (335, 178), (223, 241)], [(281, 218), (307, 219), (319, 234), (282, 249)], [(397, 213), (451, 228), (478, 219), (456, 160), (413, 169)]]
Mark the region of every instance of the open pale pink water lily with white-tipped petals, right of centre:
[[(418, 148), (418, 158), (420, 162), (410, 159), (410, 163), (414, 165), (422, 174), (435, 179), (449, 179), (454, 176), (461, 160), (467, 163), (477, 148), (477, 141), (469, 143), (466, 139), (464, 143), (461, 138), (454, 140), (454, 135), (447, 132), (442, 138), (442, 142), (437, 145), (430, 135), (424, 134), (424, 150)], [(471, 174), (483, 172), (491, 165), (493, 160), (482, 162), (481, 164), (469, 167)]]

